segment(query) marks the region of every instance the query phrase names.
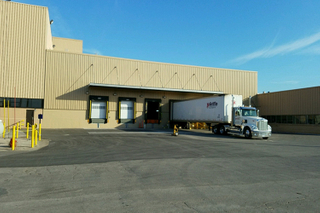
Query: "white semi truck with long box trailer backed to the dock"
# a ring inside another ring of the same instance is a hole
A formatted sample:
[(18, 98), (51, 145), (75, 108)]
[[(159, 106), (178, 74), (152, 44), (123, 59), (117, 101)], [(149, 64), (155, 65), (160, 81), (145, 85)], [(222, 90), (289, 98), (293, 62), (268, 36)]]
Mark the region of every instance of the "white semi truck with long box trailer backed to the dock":
[(255, 107), (243, 106), (242, 95), (173, 101), (170, 103), (170, 121), (187, 128), (192, 122), (205, 122), (214, 134), (232, 134), (245, 138), (268, 139), (272, 131), (268, 120), (259, 117)]

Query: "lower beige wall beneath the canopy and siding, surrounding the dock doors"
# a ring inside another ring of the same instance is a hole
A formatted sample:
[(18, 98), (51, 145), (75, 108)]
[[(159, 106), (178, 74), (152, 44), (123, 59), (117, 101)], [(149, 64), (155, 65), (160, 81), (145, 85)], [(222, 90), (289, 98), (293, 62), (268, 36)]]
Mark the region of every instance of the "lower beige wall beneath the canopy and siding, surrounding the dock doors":
[[(116, 95), (114, 95), (116, 94)], [(146, 125), (146, 128), (167, 128), (169, 121), (169, 99), (192, 99), (200, 98), (206, 95), (190, 94), (190, 93), (174, 93), (174, 92), (158, 92), (146, 90), (119, 90), (119, 89), (105, 89), (93, 88), (90, 89), (90, 94), (83, 99), (85, 102), (85, 109), (70, 110), (70, 109), (45, 109), (43, 127), (44, 128), (97, 128), (97, 124), (88, 124), (88, 101), (89, 95), (108, 96), (109, 97), (109, 114), (107, 124), (99, 124), (100, 128), (141, 128), (144, 120), (144, 104), (145, 99), (161, 99), (161, 123)], [(141, 96), (141, 97), (140, 97)], [(136, 98), (136, 123), (135, 124), (119, 124), (118, 120), (118, 98)], [(165, 97), (165, 98), (164, 98)]]

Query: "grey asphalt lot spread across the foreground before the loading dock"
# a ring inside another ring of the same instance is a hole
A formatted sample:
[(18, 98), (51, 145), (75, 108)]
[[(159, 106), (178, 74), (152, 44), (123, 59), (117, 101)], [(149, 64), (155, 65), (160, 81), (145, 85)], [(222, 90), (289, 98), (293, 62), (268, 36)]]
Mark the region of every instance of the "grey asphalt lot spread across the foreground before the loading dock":
[(320, 136), (44, 130), (0, 153), (1, 212), (317, 212)]

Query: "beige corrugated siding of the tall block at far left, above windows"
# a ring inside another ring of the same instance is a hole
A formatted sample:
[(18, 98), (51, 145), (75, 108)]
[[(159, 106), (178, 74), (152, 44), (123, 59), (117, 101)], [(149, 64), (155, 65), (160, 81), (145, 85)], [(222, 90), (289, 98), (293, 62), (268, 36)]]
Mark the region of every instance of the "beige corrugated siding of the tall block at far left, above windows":
[(0, 2), (0, 96), (43, 98), (48, 9)]

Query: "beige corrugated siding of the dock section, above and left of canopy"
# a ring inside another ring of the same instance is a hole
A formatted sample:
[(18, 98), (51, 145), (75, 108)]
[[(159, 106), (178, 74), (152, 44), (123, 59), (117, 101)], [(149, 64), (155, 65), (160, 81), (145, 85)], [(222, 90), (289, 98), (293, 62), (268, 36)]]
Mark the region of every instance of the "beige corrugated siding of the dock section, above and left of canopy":
[(257, 93), (257, 72), (47, 51), (45, 108), (86, 109), (89, 83), (220, 91), (245, 98)]

